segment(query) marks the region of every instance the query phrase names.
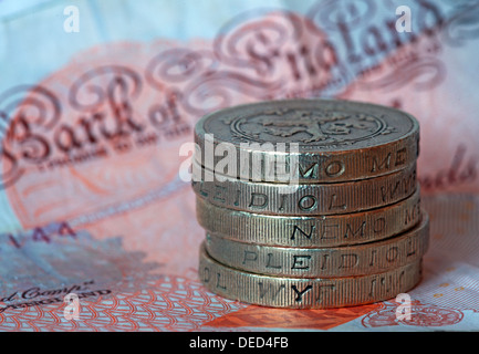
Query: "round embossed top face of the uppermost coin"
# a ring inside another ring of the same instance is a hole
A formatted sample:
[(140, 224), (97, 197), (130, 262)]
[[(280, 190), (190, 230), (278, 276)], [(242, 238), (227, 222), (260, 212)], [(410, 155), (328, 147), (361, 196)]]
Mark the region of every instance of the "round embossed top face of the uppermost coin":
[(199, 126), (218, 142), (298, 143), (300, 152), (365, 148), (418, 131), (417, 122), (400, 111), (333, 100), (237, 106), (206, 116)]

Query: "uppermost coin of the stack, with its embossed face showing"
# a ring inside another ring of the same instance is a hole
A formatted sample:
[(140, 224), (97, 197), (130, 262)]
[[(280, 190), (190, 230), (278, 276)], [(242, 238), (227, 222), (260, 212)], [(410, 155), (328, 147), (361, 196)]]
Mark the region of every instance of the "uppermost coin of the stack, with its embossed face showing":
[(284, 100), (235, 106), (195, 127), (195, 159), (252, 181), (317, 184), (387, 175), (413, 164), (419, 124), (386, 106)]

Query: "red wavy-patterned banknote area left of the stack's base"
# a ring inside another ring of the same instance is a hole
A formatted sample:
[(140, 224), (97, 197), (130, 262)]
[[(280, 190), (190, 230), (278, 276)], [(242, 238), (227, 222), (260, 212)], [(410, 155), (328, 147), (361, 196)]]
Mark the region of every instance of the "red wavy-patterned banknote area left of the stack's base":
[(82, 300), (80, 320), (66, 320), (64, 304), (9, 310), (0, 314), (0, 331), (197, 331), (246, 306), (186, 278), (162, 277), (144, 289)]

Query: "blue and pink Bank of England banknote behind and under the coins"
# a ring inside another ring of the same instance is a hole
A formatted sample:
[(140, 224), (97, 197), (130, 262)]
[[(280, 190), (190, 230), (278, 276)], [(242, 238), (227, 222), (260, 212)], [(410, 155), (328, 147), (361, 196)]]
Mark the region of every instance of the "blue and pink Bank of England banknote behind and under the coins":
[[(0, 331), (479, 330), (479, 2), (20, 2), (0, 3)], [(180, 147), (204, 114), (288, 97), (420, 122), (431, 240), (409, 317), (201, 285)]]

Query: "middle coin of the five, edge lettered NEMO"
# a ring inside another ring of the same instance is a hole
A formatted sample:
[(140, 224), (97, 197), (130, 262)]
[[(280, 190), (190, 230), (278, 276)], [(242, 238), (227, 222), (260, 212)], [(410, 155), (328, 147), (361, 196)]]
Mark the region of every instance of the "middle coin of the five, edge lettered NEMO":
[(327, 217), (283, 217), (217, 207), (196, 198), (199, 225), (241, 242), (284, 247), (337, 247), (372, 242), (402, 233), (420, 221), (420, 189), (388, 207)]

